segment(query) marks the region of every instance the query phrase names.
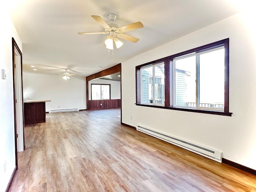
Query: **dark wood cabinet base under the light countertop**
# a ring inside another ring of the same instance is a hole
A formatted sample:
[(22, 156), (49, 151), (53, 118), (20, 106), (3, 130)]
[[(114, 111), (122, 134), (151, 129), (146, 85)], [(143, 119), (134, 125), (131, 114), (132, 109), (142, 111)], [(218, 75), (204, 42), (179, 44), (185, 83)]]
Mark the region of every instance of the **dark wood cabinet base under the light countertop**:
[(45, 102), (24, 102), (24, 123), (45, 122)]

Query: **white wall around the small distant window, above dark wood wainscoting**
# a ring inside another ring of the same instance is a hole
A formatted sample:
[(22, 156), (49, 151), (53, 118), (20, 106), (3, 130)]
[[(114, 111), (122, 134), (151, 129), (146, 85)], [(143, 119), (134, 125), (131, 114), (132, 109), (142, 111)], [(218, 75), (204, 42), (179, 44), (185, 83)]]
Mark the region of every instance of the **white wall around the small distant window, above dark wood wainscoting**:
[(121, 98), (120, 81), (111, 81), (105, 79), (94, 79), (88, 82), (89, 100), (91, 100), (91, 84), (110, 84), (111, 99)]

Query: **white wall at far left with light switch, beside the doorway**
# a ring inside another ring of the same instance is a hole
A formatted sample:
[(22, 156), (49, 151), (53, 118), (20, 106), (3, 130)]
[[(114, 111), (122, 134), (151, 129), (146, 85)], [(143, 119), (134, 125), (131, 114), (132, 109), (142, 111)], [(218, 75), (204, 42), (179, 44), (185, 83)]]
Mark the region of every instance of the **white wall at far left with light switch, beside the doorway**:
[[(5, 191), (15, 168), (14, 103), (12, 80), (12, 37), (20, 50), (22, 43), (6, 9), (0, 6), (0, 69), (5, 69), (7, 79), (0, 77), (0, 191)], [(7, 170), (4, 172), (4, 161)]]

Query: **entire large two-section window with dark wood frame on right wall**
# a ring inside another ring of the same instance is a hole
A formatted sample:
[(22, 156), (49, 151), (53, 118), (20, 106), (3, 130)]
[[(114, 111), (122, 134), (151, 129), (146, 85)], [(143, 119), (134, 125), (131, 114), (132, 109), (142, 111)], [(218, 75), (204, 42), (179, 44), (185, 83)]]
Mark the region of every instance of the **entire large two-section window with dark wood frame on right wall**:
[(136, 66), (136, 104), (231, 116), (229, 39)]

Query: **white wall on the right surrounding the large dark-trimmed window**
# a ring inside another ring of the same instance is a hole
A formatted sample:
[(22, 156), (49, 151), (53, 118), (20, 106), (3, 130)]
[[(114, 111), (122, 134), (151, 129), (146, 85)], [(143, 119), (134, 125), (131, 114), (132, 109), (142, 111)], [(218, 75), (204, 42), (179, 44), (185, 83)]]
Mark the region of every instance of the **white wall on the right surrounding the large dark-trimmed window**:
[[(255, 18), (252, 12), (236, 14), (123, 62), (122, 122), (148, 126), (222, 151), (224, 158), (256, 170)], [(230, 38), (229, 106), (232, 117), (134, 104), (135, 66), (225, 38)]]

